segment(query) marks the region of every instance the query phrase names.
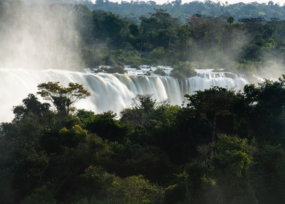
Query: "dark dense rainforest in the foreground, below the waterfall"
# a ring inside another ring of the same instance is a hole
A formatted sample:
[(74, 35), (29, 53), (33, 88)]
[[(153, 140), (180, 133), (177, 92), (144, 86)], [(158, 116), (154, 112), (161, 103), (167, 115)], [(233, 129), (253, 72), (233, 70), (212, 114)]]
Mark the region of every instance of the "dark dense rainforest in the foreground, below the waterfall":
[(284, 203), (285, 75), (77, 110), (80, 84), (38, 85), (0, 125), (1, 203)]

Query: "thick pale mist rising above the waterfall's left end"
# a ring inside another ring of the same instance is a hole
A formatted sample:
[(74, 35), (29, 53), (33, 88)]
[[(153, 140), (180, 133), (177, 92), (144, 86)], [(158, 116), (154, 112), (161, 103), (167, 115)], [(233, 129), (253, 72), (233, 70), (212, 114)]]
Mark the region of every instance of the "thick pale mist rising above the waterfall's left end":
[(1, 67), (78, 70), (80, 36), (72, 5), (0, 5)]

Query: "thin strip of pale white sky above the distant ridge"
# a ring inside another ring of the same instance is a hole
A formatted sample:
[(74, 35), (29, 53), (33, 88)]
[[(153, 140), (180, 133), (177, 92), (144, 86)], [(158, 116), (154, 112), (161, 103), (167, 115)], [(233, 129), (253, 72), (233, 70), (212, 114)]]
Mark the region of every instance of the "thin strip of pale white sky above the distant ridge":
[[(95, 0), (92, 0), (93, 2), (95, 2)], [(112, 1), (112, 2), (121, 2), (121, 0), (109, 0), (109, 1)], [(130, 2), (131, 0), (124, 0), (124, 1), (128, 1)], [(135, 1), (135, 0), (134, 0)], [(139, 1), (142, 1), (142, 0), (139, 0)], [(143, 1), (147, 1), (147, 0), (143, 0)], [(166, 3), (167, 0), (152, 0), (152, 1), (155, 1), (157, 4), (164, 4)], [(174, 1), (174, 0), (169, 0), (170, 2), (171, 1)], [(188, 2), (191, 2), (193, 0), (182, 0), (182, 4), (183, 3), (188, 3)], [(204, 1), (204, 0), (200, 0), (200, 1)], [(268, 3), (268, 1), (270, 0), (256, 0), (258, 3)], [(275, 3), (279, 3), (280, 6), (283, 6), (283, 4), (285, 4), (285, 0), (272, 0)], [(214, 1), (214, 2), (217, 2), (217, 1)], [(221, 2), (225, 3), (226, 0), (221, 0)], [(254, 0), (228, 0), (227, 1), (229, 4), (234, 4), (234, 3), (239, 3), (239, 2), (243, 2), (243, 3), (251, 3), (251, 2), (254, 2)]]

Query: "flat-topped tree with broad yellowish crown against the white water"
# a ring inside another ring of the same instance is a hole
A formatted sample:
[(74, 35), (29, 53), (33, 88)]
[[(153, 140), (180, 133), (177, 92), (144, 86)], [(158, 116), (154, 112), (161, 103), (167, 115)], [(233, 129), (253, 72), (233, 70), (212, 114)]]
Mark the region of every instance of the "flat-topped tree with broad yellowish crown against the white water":
[(42, 96), (44, 100), (48, 100), (54, 104), (58, 112), (69, 113), (70, 106), (82, 98), (90, 96), (90, 92), (84, 89), (82, 84), (69, 83), (65, 88), (59, 84), (60, 82), (48, 82), (38, 84), (37, 94)]

